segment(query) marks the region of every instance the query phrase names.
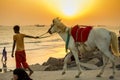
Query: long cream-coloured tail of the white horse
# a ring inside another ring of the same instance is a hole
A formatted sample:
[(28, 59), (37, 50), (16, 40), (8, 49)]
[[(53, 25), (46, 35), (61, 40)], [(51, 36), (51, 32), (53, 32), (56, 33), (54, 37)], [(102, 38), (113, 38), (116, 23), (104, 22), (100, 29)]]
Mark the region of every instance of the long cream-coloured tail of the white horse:
[(117, 35), (114, 32), (110, 32), (110, 34), (111, 34), (111, 47), (112, 47), (113, 54), (115, 56), (120, 56), (120, 53), (118, 51), (118, 38), (117, 38)]

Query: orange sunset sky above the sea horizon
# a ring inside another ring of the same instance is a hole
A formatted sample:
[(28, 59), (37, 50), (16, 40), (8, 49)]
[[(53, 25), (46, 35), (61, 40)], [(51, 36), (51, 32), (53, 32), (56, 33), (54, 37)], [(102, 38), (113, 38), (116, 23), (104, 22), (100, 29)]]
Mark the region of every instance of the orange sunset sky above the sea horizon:
[[(68, 2), (65, 3), (64, 1)], [(60, 10), (66, 8), (63, 5), (69, 5), (70, 1), (81, 1), (76, 3), (76, 5), (82, 8), (80, 10), (80, 8), (76, 7), (78, 8), (76, 9), (78, 10), (77, 13), (74, 14), (76, 17), (69, 18)], [(86, 4), (84, 4), (85, 1)], [(120, 25), (120, 0), (92, 0), (91, 5), (89, 1), (0, 0), (0, 25), (50, 25), (52, 19), (55, 17), (62, 18), (63, 22), (69, 26), (75, 24)], [(87, 6), (88, 4), (90, 6)], [(87, 8), (85, 8), (86, 6)]]

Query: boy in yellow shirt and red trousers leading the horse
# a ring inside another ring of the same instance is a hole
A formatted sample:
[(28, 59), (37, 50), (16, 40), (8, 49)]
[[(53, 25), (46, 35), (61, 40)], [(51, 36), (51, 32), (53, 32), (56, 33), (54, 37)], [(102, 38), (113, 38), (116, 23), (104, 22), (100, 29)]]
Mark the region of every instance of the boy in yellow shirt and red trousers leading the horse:
[(25, 48), (24, 48), (24, 38), (39, 38), (34, 36), (29, 36), (26, 34), (20, 33), (20, 27), (18, 25), (15, 25), (13, 28), (14, 32), (16, 33), (13, 35), (13, 48), (12, 48), (12, 54), (11, 56), (14, 57), (14, 49), (16, 46), (16, 52), (15, 52), (15, 60), (16, 60), (16, 68), (24, 68), (29, 70), (29, 76), (33, 73), (33, 71), (28, 66), (28, 63), (26, 62), (26, 54), (25, 54)]

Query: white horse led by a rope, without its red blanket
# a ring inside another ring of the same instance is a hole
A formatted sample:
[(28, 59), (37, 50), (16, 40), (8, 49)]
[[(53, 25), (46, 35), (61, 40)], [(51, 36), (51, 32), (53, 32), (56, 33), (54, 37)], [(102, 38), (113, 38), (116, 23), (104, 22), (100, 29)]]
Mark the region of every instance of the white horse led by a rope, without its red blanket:
[[(67, 40), (67, 32), (70, 31), (70, 28), (66, 27), (59, 18), (53, 19), (53, 23), (51, 24), (51, 28), (48, 30), (50, 34), (53, 33), (58, 33), (61, 38), (66, 42)], [(117, 56), (119, 56), (118, 52), (118, 40), (117, 36), (114, 32), (111, 32), (109, 30), (106, 30), (104, 28), (93, 28), (88, 36), (87, 41), (84, 43), (87, 47), (87, 51), (92, 51), (95, 50), (96, 48), (99, 49), (103, 56), (105, 57), (104, 60), (104, 65), (103, 68), (101, 69), (100, 73), (97, 75), (97, 77), (101, 77), (101, 75), (104, 72), (104, 68), (107, 65), (107, 62), (110, 60), (112, 62), (113, 66), (113, 74), (110, 76), (111, 79), (114, 78), (115, 75), (115, 56), (113, 53)], [(81, 53), (83, 50), (81, 48), (76, 47), (76, 43), (70, 35), (69, 38), (69, 44), (68, 44), (68, 49), (72, 52), (75, 58), (75, 62), (78, 68), (78, 74), (76, 75), (76, 78), (79, 78), (79, 75), (82, 73), (81, 72), (81, 67), (80, 67), (80, 62), (78, 59), (78, 53), (79, 51)], [(69, 56), (68, 56), (69, 58)], [(63, 66), (63, 72), (62, 74), (65, 74), (66, 69), (67, 69), (67, 59), (64, 60), (64, 66)]]

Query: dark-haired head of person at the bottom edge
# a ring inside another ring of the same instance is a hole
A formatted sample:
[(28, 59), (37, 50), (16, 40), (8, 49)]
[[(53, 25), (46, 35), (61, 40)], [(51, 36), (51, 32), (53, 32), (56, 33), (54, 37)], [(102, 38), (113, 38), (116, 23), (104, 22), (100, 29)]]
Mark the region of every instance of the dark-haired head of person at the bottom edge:
[(22, 68), (13, 71), (13, 80), (32, 80)]

